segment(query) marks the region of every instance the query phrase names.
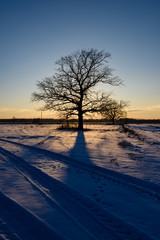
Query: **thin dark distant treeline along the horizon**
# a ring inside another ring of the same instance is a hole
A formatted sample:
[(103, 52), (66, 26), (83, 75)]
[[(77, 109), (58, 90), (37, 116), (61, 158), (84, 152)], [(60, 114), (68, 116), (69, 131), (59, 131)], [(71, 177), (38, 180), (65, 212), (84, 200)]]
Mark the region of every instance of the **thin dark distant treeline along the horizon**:
[[(12, 118), (12, 119), (0, 119), (0, 124), (63, 124), (65, 119), (52, 119), (52, 118)], [(68, 120), (70, 123), (76, 123), (76, 119)], [(111, 121), (105, 119), (86, 119), (86, 124), (112, 124)], [(133, 119), (125, 118), (116, 121), (116, 124), (145, 124), (145, 123), (159, 123), (160, 119)]]

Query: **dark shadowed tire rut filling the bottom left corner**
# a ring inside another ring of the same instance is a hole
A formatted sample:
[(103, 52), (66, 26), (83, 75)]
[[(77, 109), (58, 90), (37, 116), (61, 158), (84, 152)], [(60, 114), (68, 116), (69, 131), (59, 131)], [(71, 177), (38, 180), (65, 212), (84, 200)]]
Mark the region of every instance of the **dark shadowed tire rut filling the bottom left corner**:
[(0, 236), (5, 240), (64, 240), (44, 222), (0, 192)]

